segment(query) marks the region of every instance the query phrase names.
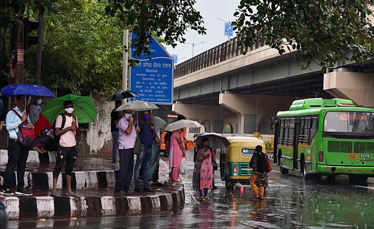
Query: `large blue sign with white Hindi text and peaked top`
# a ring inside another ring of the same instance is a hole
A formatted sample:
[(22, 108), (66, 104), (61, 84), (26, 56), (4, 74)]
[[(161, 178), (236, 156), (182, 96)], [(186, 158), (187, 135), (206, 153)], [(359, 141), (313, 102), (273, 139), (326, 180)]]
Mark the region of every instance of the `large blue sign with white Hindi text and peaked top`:
[[(131, 33), (130, 41), (135, 37), (135, 33)], [(174, 59), (153, 35), (148, 49), (152, 54), (151, 60), (145, 55), (134, 57), (135, 48), (131, 48), (131, 58), (139, 60), (139, 63), (129, 67), (129, 90), (139, 96), (130, 100), (173, 104)]]

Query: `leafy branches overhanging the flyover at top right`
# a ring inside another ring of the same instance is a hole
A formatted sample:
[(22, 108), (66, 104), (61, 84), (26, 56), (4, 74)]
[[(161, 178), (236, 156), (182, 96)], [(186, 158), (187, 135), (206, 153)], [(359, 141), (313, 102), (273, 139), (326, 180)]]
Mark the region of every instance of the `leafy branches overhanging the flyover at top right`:
[(264, 40), (279, 54), (298, 51), (303, 68), (312, 61), (322, 67), (344, 60), (363, 64), (374, 59), (367, 18), (373, 5), (374, 0), (242, 0), (232, 24), (247, 47)]

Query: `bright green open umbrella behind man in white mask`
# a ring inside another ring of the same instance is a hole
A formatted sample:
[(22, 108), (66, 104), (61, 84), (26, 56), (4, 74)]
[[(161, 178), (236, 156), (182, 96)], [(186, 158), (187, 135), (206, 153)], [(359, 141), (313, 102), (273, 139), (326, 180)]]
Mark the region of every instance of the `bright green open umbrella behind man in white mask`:
[(97, 112), (91, 97), (68, 94), (49, 100), (43, 109), (42, 114), (50, 123), (52, 123), (59, 114), (65, 113), (64, 101), (66, 100), (73, 101), (73, 114), (77, 117), (78, 124), (93, 122), (95, 120)]

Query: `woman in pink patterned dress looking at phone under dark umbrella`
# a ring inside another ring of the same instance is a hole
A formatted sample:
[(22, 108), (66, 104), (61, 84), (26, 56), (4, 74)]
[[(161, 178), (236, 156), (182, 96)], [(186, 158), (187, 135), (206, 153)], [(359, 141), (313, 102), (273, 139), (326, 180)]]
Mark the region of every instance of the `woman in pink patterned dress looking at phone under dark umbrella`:
[(208, 138), (203, 138), (202, 143), (203, 145), (199, 148), (196, 155), (192, 186), (193, 190), (199, 190), (200, 201), (211, 201), (212, 199), (208, 198), (208, 189), (212, 189), (212, 152)]

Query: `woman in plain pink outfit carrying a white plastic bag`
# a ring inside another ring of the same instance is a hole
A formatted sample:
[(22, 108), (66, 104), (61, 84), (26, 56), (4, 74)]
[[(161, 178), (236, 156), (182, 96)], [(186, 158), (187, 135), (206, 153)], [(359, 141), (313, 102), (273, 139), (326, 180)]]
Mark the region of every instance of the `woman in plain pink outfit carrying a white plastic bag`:
[(183, 129), (177, 129), (170, 137), (170, 162), (169, 172), (172, 186), (181, 186), (178, 183), (179, 172), (178, 167), (181, 164), (182, 158), (186, 156), (186, 149), (184, 149), (184, 137), (181, 136)]

